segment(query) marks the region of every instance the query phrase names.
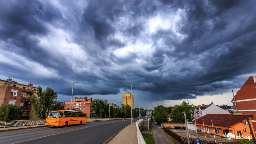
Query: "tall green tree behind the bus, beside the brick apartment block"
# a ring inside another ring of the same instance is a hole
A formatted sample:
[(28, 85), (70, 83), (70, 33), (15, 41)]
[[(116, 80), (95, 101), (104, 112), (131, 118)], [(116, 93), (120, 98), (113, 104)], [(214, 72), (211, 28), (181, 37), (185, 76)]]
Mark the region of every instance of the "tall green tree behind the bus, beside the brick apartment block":
[(58, 94), (53, 89), (47, 87), (46, 90), (42, 90), (38, 86), (36, 95), (30, 97), (30, 101), (33, 107), (33, 111), (40, 119), (46, 118), (46, 112), (50, 109), (54, 101), (57, 99)]

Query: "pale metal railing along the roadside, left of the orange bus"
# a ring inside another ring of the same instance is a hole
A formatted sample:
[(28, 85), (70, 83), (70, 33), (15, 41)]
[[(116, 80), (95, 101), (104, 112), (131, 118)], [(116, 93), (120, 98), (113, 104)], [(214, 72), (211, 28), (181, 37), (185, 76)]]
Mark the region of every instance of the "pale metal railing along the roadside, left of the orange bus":
[(0, 128), (44, 124), (43, 120), (0, 121)]

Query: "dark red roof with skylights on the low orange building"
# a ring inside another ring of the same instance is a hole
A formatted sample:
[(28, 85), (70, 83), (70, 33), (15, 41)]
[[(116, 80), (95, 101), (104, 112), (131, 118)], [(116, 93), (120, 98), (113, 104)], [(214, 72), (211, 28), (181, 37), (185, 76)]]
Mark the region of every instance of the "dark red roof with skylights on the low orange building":
[[(204, 119), (204, 124), (213, 124), (213, 125), (220, 125), (220, 126), (230, 126), (233, 124), (236, 124), (237, 122), (241, 122), (247, 117), (250, 117), (252, 115), (243, 115), (243, 116), (234, 116), (232, 114), (230, 115), (224, 115), (224, 114), (207, 114), (205, 116), (202, 116), (198, 119), (196, 119), (196, 123), (203, 124), (203, 119), (208, 117), (209, 119)], [(211, 119), (213, 118), (213, 119)], [(218, 120), (215, 120), (219, 118)], [(223, 118), (223, 119), (222, 119)], [(220, 120), (222, 119), (222, 120)], [(226, 119), (229, 119), (225, 121)]]

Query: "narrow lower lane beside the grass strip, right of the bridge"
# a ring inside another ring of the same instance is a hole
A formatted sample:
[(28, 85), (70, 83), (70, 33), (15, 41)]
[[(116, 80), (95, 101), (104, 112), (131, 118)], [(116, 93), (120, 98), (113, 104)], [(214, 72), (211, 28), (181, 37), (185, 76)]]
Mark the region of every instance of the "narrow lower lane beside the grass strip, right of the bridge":
[(152, 133), (156, 144), (174, 144), (168, 134), (166, 134), (164, 130), (161, 129), (161, 126), (157, 125), (155, 121), (153, 121)]

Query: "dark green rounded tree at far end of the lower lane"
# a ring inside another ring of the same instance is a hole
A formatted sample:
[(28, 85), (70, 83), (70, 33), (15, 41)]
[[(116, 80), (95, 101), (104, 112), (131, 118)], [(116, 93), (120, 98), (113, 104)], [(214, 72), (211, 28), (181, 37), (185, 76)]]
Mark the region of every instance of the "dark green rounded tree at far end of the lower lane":
[(169, 111), (167, 107), (164, 107), (162, 105), (158, 105), (157, 107), (155, 107), (154, 118), (158, 124), (166, 122), (166, 118), (168, 115)]

